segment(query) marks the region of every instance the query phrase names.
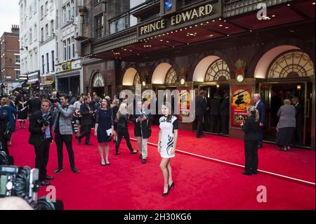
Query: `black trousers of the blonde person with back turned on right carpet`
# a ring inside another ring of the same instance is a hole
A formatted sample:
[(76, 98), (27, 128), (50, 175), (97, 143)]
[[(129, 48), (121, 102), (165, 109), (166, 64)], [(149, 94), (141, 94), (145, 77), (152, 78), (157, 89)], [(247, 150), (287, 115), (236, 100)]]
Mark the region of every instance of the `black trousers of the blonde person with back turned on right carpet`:
[(245, 167), (247, 173), (258, 170), (258, 140), (244, 141)]

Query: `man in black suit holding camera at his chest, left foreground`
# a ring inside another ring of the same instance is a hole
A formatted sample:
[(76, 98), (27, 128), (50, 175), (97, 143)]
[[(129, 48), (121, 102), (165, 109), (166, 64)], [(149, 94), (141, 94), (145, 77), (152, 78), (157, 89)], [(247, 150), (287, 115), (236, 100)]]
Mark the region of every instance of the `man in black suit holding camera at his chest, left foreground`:
[(46, 166), (49, 157), (49, 145), (53, 140), (51, 134), (51, 113), (49, 109), (51, 102), (43, 100), (41, 109), (34, 112), (29, 118), (29, 144), (34, 145), (35, 149), (35, 168), (39, 169), (39, 181), (41, 185), (50, 185), (45, 180), (53, 180), (47, 176)]

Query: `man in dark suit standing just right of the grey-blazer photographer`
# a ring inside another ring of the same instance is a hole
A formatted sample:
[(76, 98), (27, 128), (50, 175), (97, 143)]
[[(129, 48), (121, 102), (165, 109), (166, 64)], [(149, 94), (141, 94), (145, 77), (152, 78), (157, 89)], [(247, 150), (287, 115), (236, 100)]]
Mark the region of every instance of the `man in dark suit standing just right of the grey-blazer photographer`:
[(86, 145), (92, 145), (89, 143), (90, 136), (91, 136), (91, 125), (92, 125), (92, 115), (94, 113), (89, 106), (91, 103), (91, 98), (88, 96), (84, 97), (84, 103), (80, 106), (80, 114), (82, 115), (81, 118), (81, 135), (77, 138), (77, 142), (81, 144), (81, 138), (86, 136)]

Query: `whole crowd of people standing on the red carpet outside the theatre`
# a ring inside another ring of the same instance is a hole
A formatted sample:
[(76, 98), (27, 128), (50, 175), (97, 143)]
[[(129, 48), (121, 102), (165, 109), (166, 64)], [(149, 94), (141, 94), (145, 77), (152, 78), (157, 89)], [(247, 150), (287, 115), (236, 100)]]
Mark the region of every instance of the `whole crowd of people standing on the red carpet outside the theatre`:
[[(251, 175), (258, 173), (258, 148), (263, 147), (263, 129), (265, 127), (265, 104), (261, 101), (261, 95), (254, 94), (254, 106), (247, 108), (248, 118), (241, 124), (244, 131), (244, 152), (245, 171), (243, 174)], [(29, 144), (34, 146), (35, 167), (39, 169), (39, 180), (41, 185), (50, 185), (47, 180), (52, 180), (52, 176), (47, 175), (46, 166), (49, 159), (50, 145), (55, 141), (58, 154), (58, 166), (54, 173), (58, 174), (63, 170), (63, 145), (65, 143), (70, 160), (70, 168), (74, 173), (79, 173), (74, 162), (74, 150), (72, 146), (72, 136), (77, 138), (77, 143), (81, 145), (84, 139), (85, 145), (90, 143), (91, 128), (94, 127), (94, 135), (98, 140), (98, 153), (100, 154), (100, 164), (109, 166), (109, 143), (115, 143), (115, 155), (121, 154), (121, 140), (124, 138), (131, 154), (138, 154), (141, 162), (146, 164), (148, 157), (147, 143), (152, 134), (152, 123), (157, 119), (157, 114), (151, 114), (150, 103), (143, 99), (136, 102), (133, 113), (129, 114), (129, 104), (125, 99), (114, 96), (100, 98), (96, 93), (92, 95), (78, 95), (74, 97), (70, 94), (51, 95), (11, 95), (1, 98), (1, 113), (7, 118), (1, 117), (0, 143), (1, 150), (9, 154), (8, 146), (12, 144), (12, 136), (5, 138), (4, 133), (10, 129), (15, 132), (16, 121), (19, 129), (26, 129), (26, 121), (29, 117)], [(222, 102), (215, 94), (211, 100), (212, 107), (218, 108), (218, 112), (211, 112), (213, 121), (212, 130), (216, 129), (218, 121), (221, 121), (221, 130), (228, 133), (229, 119), (229, 95), (225, 93)], [(171, 158), (175, 156), (176, 142), (178, 139), (178, 119), (173, 115), (172, 103), (165, 102), (161, 108), (162, 115), (158, 118), (159, 140), (157, 150), (162, 157), (160, 169), (164, 176), (163, 196), (169, 194), (169, 190), (174, 186), (171, 171)], [(206, 102), (206, 91), (201, 91), (196, 98), (196, 121), (197, 138), (203, 137), (202, 125), (204, 123), (204, 113), (210, 110)], [(227, 110), (227, 111), (226, 111)], [(1, 115), (2, 116), (2, 115)], [(284, 100), (284, 105), (279, 107), (277, 112), (277, 140), (281, 150), (289, 150), (289, 145), (293, 136), (296, 142), (301, 143), (301, 123), (303, 121), (303, 109), (298, 98), (294, 97)], [(133, 122), (133, 134), (137, 139), (138, 150), (133, 149), (129, 134), (129, 121)], [(218, 129), (218, 128), (217, 128)]]

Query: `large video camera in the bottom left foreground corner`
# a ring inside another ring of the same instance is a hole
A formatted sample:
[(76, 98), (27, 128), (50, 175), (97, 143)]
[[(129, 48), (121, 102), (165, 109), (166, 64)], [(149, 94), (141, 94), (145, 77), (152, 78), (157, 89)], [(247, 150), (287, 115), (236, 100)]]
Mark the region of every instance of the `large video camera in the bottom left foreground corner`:
[(0, 166), (0, 197), (21, 197), (36, 210), (62, 210), (63, 204), (59, 200), (48, 202), (45, 196), (37, 199), (40, 186), (39, 169)]

